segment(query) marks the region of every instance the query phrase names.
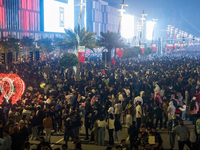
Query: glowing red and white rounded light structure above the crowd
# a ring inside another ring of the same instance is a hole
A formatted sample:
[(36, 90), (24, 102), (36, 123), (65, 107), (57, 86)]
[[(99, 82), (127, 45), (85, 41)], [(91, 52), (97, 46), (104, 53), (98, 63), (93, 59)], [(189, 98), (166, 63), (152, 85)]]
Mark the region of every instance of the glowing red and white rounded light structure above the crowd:
[(16, 74), (0, 74), (0, 103), (3, 102), (3, 98), (7, 101), (11, 99), (13, 104), (21, 98), (25, 91), (24, 81)]

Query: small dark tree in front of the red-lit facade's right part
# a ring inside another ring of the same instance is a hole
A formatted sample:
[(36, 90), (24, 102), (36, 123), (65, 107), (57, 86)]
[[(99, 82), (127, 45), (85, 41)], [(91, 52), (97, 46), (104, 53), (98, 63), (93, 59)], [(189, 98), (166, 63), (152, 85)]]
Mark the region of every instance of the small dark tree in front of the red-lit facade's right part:
[(28, 60), (28, 50), (31, 50), (34, 46), (33, 42), (34, 42), (34, 39), (32, 39), (31, 37), (28, 37), (28, 36), (24, 36), (21, 39), (20, 43), (21, 43), (23, 49), (25, 49), (25, 51), (26, 51), (26, 61)]

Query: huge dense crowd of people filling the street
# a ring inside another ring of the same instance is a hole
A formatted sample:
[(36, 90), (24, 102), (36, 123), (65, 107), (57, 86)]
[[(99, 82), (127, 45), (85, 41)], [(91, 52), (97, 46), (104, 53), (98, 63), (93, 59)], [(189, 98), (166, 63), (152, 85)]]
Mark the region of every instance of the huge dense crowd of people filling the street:
[[(95, 145), (105, 146), (108, 132), (107, 150), (163, 149), (159, 133), (163, 129), (168, 131), (171, 149), (176, 135), (180, 150), (185, 144), (194, 149), (184, 121), (193, 121), (200, 143), (199, 54), (117, 60), (110, 69), (102, 62), (88, 62), (78, 80), (72, 68), (59, 66), (58, 59), (1, 66), (2, 73), (20, 76), (26, 91), (17, 104), (12, 100), (1, 104), (0, 149), (28, 150), (31, 139), (40, 141), (37, 150), (48, 150), (52, 133), (64, 133), (62, 149), (68, 149), (71, 140), (71, 149), (81, 150), (83, 126), (84, 140)], [(124, 128), (130, 146), (119, 136)]]

